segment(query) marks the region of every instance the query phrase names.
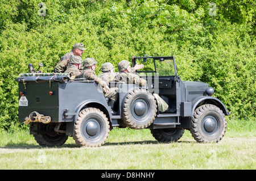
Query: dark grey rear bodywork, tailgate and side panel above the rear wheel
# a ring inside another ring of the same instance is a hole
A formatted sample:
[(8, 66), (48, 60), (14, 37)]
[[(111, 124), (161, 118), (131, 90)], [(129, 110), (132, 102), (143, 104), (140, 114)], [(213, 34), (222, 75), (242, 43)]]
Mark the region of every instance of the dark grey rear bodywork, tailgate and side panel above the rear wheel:
[[(44, 116), (51, 116), (53, 123), (70, 122), (77, 117), (81, 106), (92, 102), (100, 103), (110, 112), (104, 94), (98, 91), (97, 84), (93, 81), (52, 82), (51, 87), (48, 82), (27, 82), (26, 89), (22, 83), (19, 83), (20, 91), (25, 92), (28, 100), (28, 106), (19, 106), (20, 122), (23, 122), (24, 117), (34, 111)], [(49, 91), (52, 91), (53, 95), (49, 95)]]

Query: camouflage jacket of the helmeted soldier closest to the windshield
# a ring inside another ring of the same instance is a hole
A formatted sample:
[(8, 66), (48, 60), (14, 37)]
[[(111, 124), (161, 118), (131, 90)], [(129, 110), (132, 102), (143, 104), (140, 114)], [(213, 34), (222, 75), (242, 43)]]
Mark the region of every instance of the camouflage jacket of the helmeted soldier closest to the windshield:
[(147, 81), (145, 79), (139, 77), (139, 75), (134, 74), (134, 73), (125, 73), (125, 72), (121, 71), (121, 72), (119, 72), (119, 74), (117, 74), (115, 76), (115, 78), (118, 81), (122, 81), (127, 84), (135, 84), (138, 86), (145, 86), (147, 84)]

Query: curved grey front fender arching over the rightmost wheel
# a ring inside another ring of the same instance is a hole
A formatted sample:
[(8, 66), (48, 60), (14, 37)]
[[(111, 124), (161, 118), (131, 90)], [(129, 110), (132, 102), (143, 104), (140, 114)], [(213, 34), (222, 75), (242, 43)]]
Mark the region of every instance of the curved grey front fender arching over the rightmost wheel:
[(201, 106), (203, 104), (213, 104), (220, 108), (225, 116), (229, 116), (230, 112), (227, 111), (224, 104), (217, 98), (214, 98), (212, 96), (199, 96), (195, 100), (192, 101), (192, 112), (191, 115), (195, 112), (197, 106)]

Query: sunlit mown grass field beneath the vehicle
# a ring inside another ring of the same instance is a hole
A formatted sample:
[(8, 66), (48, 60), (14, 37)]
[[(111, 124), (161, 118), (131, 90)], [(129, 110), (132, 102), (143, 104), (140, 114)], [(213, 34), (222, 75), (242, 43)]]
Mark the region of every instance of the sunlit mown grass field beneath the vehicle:
[(80, 148), (72, 137), (60, 148), (42, 148), (28, 131), (0, 137), (0, 169), (256, 169), (255, 120), (229, 120), (217, 144), (199, 144), (189, 131), (163, 144), (148, 129), (129, 128), (114, 128), (100, 148)]

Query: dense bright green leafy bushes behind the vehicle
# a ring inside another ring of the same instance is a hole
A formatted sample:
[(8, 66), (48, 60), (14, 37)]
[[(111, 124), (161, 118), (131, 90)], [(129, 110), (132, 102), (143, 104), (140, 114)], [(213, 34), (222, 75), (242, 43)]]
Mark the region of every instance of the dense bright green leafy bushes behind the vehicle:
[(85, 44), (83, 59), (96, 58), (96, 73), (107, 61), (173, 55), (181, 79), (209, 83), (232, 118), (255, 120), (256, 3), (210, 2), (2, 0), (0, 129), (20, 127), (18, 74), (38, 62), (52, 72), (77, 42)]

